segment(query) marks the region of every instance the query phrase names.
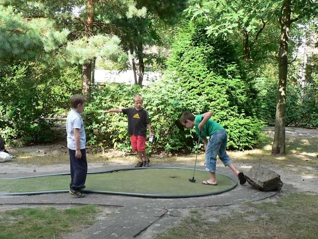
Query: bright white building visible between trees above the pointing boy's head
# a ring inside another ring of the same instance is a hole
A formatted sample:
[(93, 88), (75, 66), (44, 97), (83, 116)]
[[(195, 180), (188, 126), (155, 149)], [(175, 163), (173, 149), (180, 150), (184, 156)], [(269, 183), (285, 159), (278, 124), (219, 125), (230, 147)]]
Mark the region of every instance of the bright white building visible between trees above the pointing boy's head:
[[(159, 80), (162, 76), (160, 72), (145, 71), (143, 85), (147, 86), (149, 83)], [(137, 75), (138, 79), (138, 75)], [(104, 70), (95, 69), (94, 72), (94, 84), (100, 85), (103, 83), (125, 83), (135, 84), (135, 78), (133, 70), (117, 71), (117, 70)]]

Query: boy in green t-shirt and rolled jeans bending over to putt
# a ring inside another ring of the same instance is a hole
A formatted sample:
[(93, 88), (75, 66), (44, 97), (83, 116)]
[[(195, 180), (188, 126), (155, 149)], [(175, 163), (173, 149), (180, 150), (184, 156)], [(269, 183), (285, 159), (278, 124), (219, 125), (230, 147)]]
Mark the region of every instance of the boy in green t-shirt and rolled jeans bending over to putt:
[[(222, 160), (225, 166), (229, 166), (233, 172), (238, 176), (239, 183), (246, 182), (245, 176), (242, 172), (234, 166), (232, 159), (226, 152), (228, 134), (226, 130), (216, 121), (210, 119), (211, 112), (194, 117), (190, 112), (183, 112), (180, 117), (181, 124), (186, 128), (193, 128), (197, 135), (202, 138), (205, 149), (205, 166), (206, 170), (210, 172), (210, 179), (203, 181), (205, 185), (218, 185), (215, 176), (217, 156)], [(209, 141), (207, 136), (210, 136)]]

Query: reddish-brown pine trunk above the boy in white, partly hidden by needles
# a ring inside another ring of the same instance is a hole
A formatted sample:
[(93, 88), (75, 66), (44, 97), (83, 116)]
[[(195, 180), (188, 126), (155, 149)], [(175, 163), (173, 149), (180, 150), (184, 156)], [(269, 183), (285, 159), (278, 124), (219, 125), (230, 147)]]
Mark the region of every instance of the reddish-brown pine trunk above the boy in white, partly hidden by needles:
[[(85, 35), (89, 36), (93, 31), (93, 1), (87, 0), (87, 24), (85, 26)], [(88, 63), (84, 63), (82, 65), (82, 94), (85, 96), (89, 96), (90, 90), (90, 79), (91, 79), (91, 60)]]

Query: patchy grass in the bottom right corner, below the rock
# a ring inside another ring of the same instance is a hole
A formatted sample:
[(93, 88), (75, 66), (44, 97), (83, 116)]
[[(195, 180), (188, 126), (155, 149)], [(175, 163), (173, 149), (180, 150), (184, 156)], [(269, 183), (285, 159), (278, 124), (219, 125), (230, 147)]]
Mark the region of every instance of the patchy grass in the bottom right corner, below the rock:
[(205, 213), (193, 211), (156, 239), (317, 239), (318, 194), (293, 193), (274, 202), (244, 204), (242, 211), (209, 222)]

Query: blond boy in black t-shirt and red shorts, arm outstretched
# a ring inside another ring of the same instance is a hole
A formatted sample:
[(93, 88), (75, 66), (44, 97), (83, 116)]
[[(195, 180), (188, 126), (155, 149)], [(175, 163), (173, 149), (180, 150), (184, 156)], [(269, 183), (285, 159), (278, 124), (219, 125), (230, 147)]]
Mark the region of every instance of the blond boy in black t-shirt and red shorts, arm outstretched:
[[(151, 131), (150, 119), (148, 112), (142, 107), (143, 97), (139, 94), (134, 96), (135, 107), (126, 109), (115, 109), (104, 111), (109, 112), (122, 112), (128, 116), (128, 133), (130, 134), (130, 142), (133, 151), (138, 154), (139, 162), (135, 167), (148, 167), (150, 160), (146, 154), (146, 130), (149, 129), (149, 134), (153, 135)], [(144, 157), (144, 160), (143, 160)]]

